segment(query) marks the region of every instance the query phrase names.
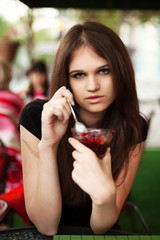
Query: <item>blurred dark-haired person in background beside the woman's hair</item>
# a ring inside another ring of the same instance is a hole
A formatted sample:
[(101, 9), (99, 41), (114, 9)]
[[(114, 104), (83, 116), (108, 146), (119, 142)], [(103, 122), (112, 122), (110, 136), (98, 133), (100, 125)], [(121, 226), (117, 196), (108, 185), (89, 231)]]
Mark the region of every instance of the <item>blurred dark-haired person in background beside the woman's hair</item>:
[(35, 98), (46, 99), (48, 97), (48, 72), (46, 64), (43, 61), (34, 62), (26, 71), (28, 77), (28, 86), (19, 94), (28, 103)]

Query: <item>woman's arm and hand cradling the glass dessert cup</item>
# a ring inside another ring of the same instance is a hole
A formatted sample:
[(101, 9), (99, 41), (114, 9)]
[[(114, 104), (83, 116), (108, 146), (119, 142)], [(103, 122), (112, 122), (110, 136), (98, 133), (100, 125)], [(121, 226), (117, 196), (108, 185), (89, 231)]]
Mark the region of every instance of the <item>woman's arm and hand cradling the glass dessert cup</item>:
[(136, 176), (144, 143), (141, 143), (141, 148), (138, 144), (133, 151), (125, 181), (118, 186), (123, 179), (124, 170), (121, 171), (116, 183), (114, 183), (109, 150), (107, 150), (104, 158), (99, 160), (93, 151), (76, 139), (71, 138), (69, 141), (76, 149), (73, 151), (73, 157), (75, 158), (72, 172), (73, 180), (92, 199), (91, 228), (95, 233), (104, 233), (118, 220), (121, 208)]

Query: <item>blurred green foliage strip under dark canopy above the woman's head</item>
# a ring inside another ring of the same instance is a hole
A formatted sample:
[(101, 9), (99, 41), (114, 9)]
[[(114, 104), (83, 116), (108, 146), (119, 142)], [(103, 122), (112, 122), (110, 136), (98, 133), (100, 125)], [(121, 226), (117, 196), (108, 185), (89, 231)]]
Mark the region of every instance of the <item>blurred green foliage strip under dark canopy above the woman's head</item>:
[(122, 23), (143, 24), (148, 21), (160, 24), (160, 11), (149, 10), (93, 10), (67, 9), (66, 16), (77, 19), (78, 22), (98, 21), (113, 29), (117, 34)]

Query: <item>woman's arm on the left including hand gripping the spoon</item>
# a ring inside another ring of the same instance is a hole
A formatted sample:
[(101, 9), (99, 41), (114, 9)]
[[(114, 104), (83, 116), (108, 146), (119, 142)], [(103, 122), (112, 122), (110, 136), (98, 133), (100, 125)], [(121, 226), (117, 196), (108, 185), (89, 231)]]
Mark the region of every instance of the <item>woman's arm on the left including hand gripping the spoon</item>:
[(46, 235), (56, 234), (61, 218), (57, 149), (71, 114), (66, 98), (73, 100), (69, 91), (59, 89), (44, 105), (41, 140), (20, 127), (26, 210), (38, 230)]

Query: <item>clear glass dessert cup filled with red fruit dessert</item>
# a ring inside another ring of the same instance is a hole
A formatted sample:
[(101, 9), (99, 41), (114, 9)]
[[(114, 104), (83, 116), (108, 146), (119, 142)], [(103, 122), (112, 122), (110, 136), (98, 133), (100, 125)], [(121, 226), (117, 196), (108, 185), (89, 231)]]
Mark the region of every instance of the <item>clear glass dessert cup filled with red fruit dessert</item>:
[(71, 130), (73, 137), (93, 150), (99, 158), (103, 158), (114, 135), (113, 129), (87, 128), (87, 132), (77, 132), (75, 128)]

